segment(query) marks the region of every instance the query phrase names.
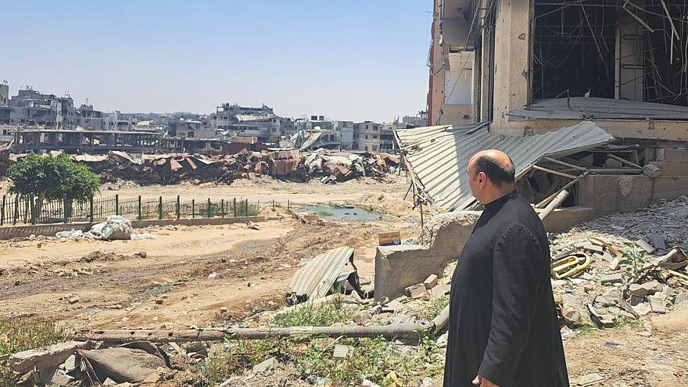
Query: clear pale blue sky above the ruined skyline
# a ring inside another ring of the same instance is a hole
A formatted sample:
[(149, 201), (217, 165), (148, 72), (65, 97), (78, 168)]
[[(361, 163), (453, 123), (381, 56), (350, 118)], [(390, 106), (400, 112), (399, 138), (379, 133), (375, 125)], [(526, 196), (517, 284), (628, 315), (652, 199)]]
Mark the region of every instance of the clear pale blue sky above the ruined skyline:
[(391, 121), (425, 109), (429, 0), (32, 1), (0, 7), (0, 80), (103, 111)]

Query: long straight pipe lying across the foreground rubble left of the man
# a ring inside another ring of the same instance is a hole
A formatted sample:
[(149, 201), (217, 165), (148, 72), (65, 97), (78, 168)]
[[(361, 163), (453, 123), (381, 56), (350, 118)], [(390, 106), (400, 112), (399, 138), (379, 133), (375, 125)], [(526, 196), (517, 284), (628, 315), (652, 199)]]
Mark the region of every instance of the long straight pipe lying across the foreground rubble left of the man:
[(424, 332), (432, 332), (434, 325), (392, 324), (384, 326), (292, 326), (288, 328), (206, 328), (206, 329), (140, 329), (78, 331), (70, 335), (78, 341), (104, 341), (106, 343), (183, 343), (190, 341), (262, 340), (295, 336), (318, 336), (337, 338), (417, 338)]

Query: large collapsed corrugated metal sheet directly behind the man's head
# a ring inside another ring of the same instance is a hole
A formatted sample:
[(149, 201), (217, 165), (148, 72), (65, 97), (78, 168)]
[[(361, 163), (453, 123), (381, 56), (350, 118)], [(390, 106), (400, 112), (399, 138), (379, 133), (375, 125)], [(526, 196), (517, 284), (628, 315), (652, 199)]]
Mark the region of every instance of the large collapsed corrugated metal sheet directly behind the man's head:
[(590, 121), (532, 136), (494, 135), (487, 123), (396, 130), (406, 159), (439, 209), (475, 204), (468, 185), (468, 161), (484, 149), (500, 149), (514, 161), (516, 178), (544, 156), (565, 156), (614, 139)]

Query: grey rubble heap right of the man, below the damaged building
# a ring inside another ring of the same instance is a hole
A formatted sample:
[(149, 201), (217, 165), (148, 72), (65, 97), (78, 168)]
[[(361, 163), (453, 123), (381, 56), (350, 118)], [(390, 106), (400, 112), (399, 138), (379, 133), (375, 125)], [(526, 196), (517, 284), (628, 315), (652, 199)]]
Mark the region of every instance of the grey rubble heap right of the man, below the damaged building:
[[(563, 337), (593, 323), (663, 314), (688, 295), (688, 197), (552, 235), (552, 285)], [(650, 334), (649, 332), (647, 334)]]

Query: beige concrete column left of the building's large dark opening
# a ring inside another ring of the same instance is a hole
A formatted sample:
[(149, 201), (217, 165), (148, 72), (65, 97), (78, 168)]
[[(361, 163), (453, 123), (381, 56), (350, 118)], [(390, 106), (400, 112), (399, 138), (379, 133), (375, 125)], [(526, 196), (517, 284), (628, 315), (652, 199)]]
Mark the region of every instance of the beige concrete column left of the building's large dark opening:
[(509, 125), (507, 113), (528, 102), (530, 1), (498, 1), (496, 19), (493, 129), (522, 134), (522, 125)]

